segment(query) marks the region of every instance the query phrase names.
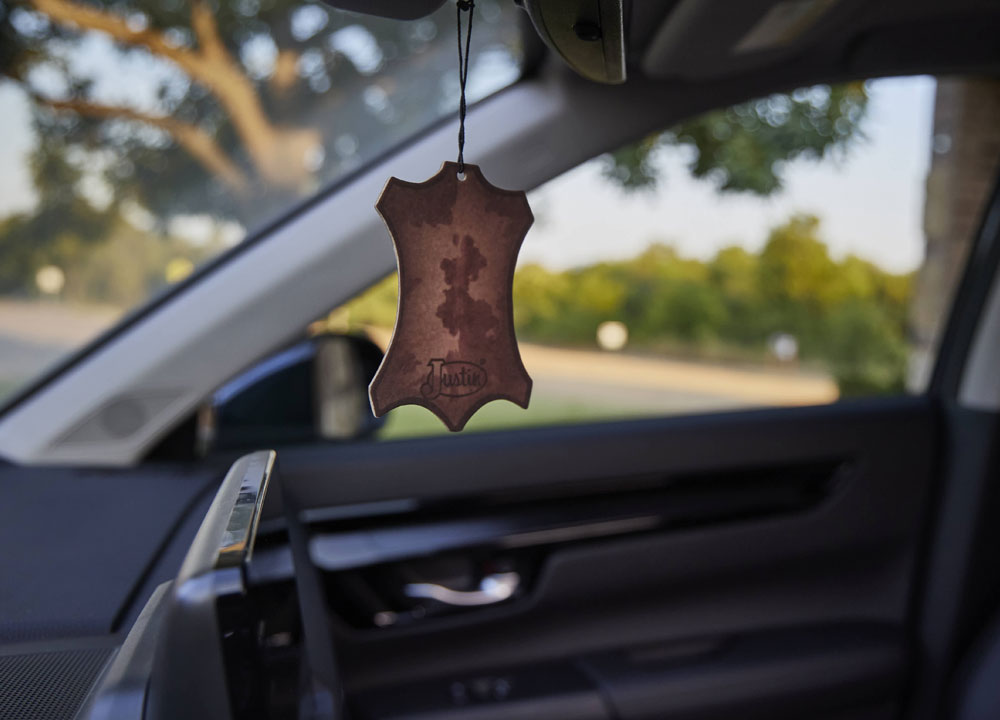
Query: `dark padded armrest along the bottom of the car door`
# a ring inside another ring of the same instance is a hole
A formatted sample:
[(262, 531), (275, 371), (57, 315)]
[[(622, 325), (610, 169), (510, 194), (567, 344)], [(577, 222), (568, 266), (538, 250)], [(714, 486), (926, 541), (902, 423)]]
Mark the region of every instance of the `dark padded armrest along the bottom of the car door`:
[(486, 676), (510, 694), (492, 707), (471, 702), (442, 707), (441, 697), (454, 694), (456, 682), (473, 689), (470, 695), (482, 683), (482, 676), (462, 673), (390, 692), (362, 693), (355, 706), (365, 718), (456, 720), (483, 716), (484, 705), (488, 717), (494, 716), (490, 712), (503, 717), (503, 711), (508, 717), (519, 717), (519, 712), (595, 718), (609, 712), (620, 718), (890, 717), (886, 699), (899, 687), (902, 659), (892, 630), (871, 623), (841, 624), (647, 645), (508, 668)]

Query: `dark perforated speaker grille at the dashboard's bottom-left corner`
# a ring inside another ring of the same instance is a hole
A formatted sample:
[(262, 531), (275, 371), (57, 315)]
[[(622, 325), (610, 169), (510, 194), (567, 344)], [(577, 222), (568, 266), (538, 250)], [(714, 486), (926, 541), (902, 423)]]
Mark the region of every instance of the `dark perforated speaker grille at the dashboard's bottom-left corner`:
[(0, 720), (73, 720), (111, 648), (0, 656)]

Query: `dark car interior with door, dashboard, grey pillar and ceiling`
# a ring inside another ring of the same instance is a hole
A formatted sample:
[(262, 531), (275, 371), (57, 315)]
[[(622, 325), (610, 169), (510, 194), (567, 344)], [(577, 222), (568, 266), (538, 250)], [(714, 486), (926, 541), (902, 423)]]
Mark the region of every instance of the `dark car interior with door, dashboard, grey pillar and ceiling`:
[[(468, 112), (505, 188), (768, 93), (1000, 69), (993, 0), (516, 4), (524, 69)], [(379, 190), (454, 140), (358, 167), (6, 405), (0, 718), (1000, 716), (995, 178), (920, 394), (386, 443), (250, 417), (261, 360), (309, 415), (349, 356), (352, 432), (378, 426), (378, 348), (302, 328), (393, 270)]]

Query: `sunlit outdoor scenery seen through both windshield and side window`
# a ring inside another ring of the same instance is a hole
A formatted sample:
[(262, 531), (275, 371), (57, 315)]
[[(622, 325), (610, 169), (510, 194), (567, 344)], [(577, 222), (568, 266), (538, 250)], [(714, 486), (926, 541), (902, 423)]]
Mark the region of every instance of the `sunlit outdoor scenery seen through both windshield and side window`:
[[(518, 13), (477, 3), (472, 101), (520, 77)], [(453, 31), (449, 8), (400, 23), (298, 0), (0, 0), (0, 400), (454, 122)], [(514, 298), (532, 407), (495, 403), (470, 429), (919, 390), (970, 235), (927, 211), (935, 163), (958, 157), (941, 87), (749, 101), (534, 189)], [(957, 250), (928, 255), (931, 216)], [(313, 330), (384, 346), (395, 292), (390, 277)], [(383, 435), (436, 428), (403, 408)]]

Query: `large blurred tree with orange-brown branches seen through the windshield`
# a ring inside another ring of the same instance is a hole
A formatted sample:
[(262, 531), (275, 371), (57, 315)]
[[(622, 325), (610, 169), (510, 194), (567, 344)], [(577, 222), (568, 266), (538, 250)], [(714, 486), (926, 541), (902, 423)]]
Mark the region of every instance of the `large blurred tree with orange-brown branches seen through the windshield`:
[[(516, 68), (514, 12), (477, 13), (473, 55), (500, 75)], [(37, 196), (0, 228), (4, 265), (23, 266), (2, 287), (102, 242), (126, 203), (160, 231), (178, 215), (270, 220), (451, 106), (453, 23), (303, 0), (0, 0), (0, 79), (32, 101)]]

